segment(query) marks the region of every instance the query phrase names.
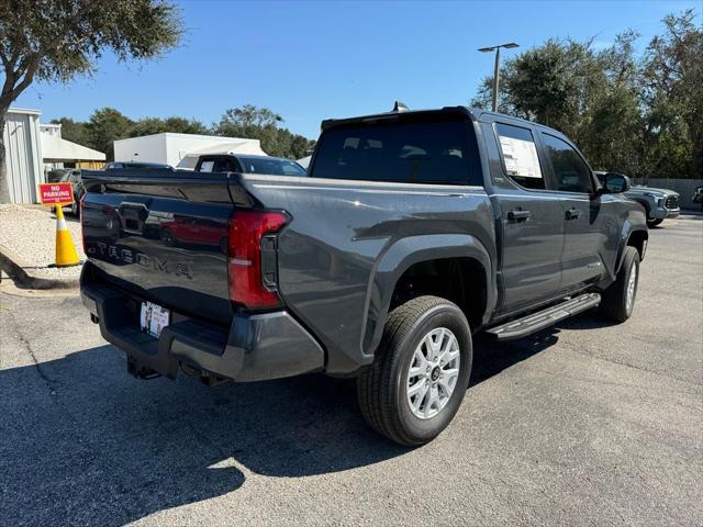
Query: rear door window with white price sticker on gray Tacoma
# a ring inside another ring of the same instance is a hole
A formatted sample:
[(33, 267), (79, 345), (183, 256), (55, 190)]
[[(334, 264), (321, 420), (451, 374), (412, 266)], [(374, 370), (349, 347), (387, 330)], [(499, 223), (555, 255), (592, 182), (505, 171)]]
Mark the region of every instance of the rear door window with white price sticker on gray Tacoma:
[(526, 189), (546, 188), (532, 131), (503, 123), (495, 130), (507, 176)]

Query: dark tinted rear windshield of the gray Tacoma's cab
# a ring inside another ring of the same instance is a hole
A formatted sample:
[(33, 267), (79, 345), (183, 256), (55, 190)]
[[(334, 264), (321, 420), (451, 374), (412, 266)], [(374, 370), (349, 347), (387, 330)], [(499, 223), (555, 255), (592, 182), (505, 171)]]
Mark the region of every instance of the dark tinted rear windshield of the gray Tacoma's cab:
[(472, 184), (467, 130), (461, 121), (334, 127), (322, 135), (310, 176)]

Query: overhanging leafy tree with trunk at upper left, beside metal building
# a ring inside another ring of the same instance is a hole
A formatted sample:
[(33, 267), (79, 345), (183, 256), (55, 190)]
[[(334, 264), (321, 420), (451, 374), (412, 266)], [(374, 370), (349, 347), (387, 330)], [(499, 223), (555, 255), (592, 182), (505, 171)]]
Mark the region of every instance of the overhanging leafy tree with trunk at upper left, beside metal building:
[[(166, 0), (3, 0), (0, 2), (0, 131), (10, 104), (34, 81), (89, 75), (105, 51), (150, 59), (180, 42), (182, 21)], [(0, 202), (9, 201), (0, 133)]]

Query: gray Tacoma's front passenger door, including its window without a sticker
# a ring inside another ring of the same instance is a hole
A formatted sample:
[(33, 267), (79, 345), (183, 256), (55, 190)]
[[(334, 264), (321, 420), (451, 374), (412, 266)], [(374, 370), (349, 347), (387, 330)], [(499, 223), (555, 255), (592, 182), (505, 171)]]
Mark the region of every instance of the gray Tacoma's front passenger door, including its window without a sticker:
[(540, 138), (548, 184), (563, 210), (561, 287), (568, 291), (599, 281), (605, 272), (603, 257), (609, 243), (605, 221), (612, 214), (612, 200), (595, 194), (591, 169), (571, 144), (548, 132), (540, 132)]

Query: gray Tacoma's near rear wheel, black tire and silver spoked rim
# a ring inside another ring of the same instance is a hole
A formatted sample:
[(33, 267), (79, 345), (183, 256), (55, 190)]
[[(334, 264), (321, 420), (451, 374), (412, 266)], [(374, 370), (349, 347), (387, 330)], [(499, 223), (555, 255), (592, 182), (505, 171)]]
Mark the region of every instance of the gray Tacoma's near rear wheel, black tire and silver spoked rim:
[(401, 445), (431, 441), (461, 405), (472, 355), (469, 323), (454, 303), (419, 296), (398, 306), (376, 361), (357, 379), (364, 418)]

